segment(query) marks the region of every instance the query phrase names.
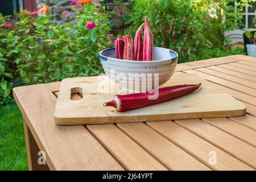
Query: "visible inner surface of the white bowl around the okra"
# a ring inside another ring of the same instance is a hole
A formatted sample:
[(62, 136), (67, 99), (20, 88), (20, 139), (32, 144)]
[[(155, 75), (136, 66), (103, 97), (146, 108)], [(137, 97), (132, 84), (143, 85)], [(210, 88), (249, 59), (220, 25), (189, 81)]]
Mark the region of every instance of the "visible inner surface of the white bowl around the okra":
[[(105, 57), (112, 57), (113, 59), (116, 59), (115, 58), (115, 48), (104, 49), (103, 51), (100, 52), (100, 55), (105, 56)], [(172, 51), (171, 49), (160, 48), (160, 47), (153, 48), (153, 60), (152, 61), (170, 60), (170, 59), (175, 59), (176, 57), (177, 57), (177, 52)], [(133, 61), (133, 60), (126, 60), (126, 61)], [(148, 62), (148, 61), (146, 61), (146, 62)]]

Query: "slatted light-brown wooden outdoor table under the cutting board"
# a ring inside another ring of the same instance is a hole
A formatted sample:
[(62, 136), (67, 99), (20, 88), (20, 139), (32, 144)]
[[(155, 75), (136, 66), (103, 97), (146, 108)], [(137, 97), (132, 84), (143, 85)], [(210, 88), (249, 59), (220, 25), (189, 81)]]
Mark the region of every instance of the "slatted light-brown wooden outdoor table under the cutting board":
[[(246, 115), (109, 125), (58, 126), (60, 82), (14, 88), (33, 170), (256, 169), (256, 58), (234, 55), (177, 65), (220, 85), (246, 105)], [(73, 98), (80, 97), (74, 95)], [(39, 165), (38, 151), (46, 152)]]

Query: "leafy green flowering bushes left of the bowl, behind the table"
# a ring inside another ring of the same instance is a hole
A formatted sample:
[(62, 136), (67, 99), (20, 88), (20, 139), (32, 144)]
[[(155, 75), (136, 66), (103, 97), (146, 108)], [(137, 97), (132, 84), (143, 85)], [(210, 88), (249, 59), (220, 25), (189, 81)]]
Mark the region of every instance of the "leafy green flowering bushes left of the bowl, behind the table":
[[(11, 100), (16, 82), (37, 84), (102, 72), (98, 52), (111, 42), (108, 15), (100, 11), (88, 3), (64, 26), (52, 23), (52, 15), (36, 18), (24, 10), (18, 22), (1, 28), (7, 20), (0, 16), (0, 104)], [(88, 30), (89, 22), (96, 27)]]

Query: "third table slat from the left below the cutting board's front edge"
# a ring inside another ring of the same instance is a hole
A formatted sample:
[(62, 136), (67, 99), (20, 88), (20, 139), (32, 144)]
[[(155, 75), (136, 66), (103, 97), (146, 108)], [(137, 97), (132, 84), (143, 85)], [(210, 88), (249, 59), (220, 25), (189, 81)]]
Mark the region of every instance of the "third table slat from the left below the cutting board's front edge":
[[(148, 126), (175, 143), (188, 154), (214, 170), (251, 170), (240, 160), (230, 156), (218, 147), (184, 129), (172, 121), (147, 122)], [(205, 132), (205, 131), (204, 131)], [(209, 163), (210, 152), (217, 154), (217, 163)]]

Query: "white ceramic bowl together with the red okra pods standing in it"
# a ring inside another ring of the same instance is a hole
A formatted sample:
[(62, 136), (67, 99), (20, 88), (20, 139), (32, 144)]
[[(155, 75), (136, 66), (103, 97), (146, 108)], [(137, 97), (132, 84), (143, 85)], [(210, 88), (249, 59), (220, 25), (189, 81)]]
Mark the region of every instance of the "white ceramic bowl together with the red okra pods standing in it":
[(156, 89), (174, 74), (178, 54), (171, 49), (153, 47), (146, 17), (134, 41), (130, 35), (123, 38), (118, 35), (114, 44), (115, 48), (104, 49), (99, 56), (106, 75), (122, 90), (138, 93)]

